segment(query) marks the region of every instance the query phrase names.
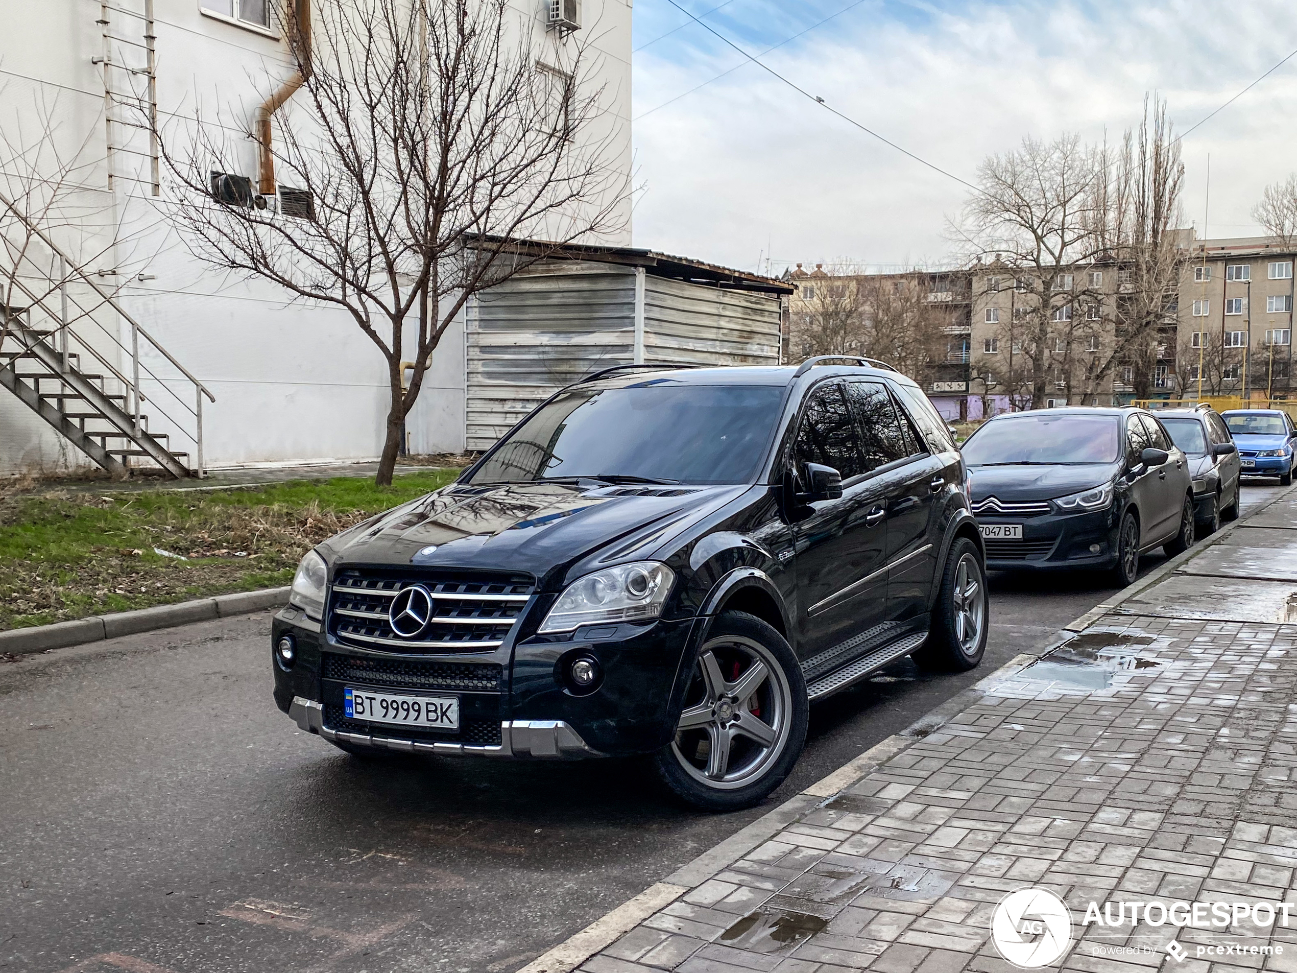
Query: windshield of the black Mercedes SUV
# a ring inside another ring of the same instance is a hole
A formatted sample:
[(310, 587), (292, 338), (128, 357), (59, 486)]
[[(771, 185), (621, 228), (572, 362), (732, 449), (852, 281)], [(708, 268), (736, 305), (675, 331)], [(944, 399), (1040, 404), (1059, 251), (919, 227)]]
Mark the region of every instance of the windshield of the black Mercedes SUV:
[(532, 413), (470, 483), (752, 483), (782, 397), (777, 385), (577, 387)]

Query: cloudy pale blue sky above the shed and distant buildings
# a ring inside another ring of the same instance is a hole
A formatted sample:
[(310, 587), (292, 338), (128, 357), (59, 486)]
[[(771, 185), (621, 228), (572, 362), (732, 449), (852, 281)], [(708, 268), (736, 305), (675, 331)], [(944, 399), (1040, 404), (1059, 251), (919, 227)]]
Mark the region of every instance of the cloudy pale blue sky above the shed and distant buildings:
[[(1119, 139), (1147, 91), (1184, 131), (1297, 48), (1291, 0), (678, 3), (699, 17), (720, 5), (703, 19), (754, 54), (831, 17), (761, 60), (969, 180), (1026, 135)], [(636, 0), (634, 47), (637, 246), (748, 270), (770, 257), (774, 272), (956, 256), (944, 222), (960, 183), (834, 118), (668, 0)], [(1185, 222), (1202, 234), (1210, 153), (1209, 235), (1259, 232), (1262, 188), (1297, 170), (1294, 122), (1297, 57), (1184, 140)]]

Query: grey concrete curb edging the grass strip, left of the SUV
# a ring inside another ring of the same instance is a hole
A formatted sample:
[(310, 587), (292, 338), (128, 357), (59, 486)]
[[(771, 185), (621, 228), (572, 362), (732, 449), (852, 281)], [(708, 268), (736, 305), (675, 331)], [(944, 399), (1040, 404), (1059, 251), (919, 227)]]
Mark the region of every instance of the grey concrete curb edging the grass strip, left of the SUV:
[(53, 625), (14, 628), (0, 632), (0, 654), (26, 655), (49, 649), (66, 649), (86, 642), (100, 642), (105, 638), (188, 625), (193, 621), (246, 615), (265, 608), (278, 608), (287, 603), (288, 588), (266, 588), (259, 592), (218, 594), (214, 598), (200, 598), (179, 605), (158, 605), (139, 611), (119, 611), (112, 615), (77, 619), (75, 621), (58, 621)]

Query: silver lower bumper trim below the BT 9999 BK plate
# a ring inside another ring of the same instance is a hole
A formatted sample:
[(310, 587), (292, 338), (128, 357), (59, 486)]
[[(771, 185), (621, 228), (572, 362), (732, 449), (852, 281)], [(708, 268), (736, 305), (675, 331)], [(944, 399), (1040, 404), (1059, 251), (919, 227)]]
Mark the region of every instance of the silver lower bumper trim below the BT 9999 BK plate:
[(589, 746), (581, 734), (562, 720), (505, 720), (501, 723), (499, 746), (472, 743), (441, 743), (425, 739), (405, 739), (387, 733), (353, 733), (332, 730), (324, 725), (324, 704), (297, 695), (288, 706), (288, 715), (307, 733), (318, 733), (324, 739), (353, 746), (393, 750), (403, 754), (433, 754), (441, 756), (536, 756), (581, 758), (604, 756)]

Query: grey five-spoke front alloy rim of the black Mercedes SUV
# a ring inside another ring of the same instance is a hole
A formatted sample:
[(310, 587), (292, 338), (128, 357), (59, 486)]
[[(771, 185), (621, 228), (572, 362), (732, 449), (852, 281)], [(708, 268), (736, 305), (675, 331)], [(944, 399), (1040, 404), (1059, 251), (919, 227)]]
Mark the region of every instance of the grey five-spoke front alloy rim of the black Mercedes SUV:
[(698, 653), (671, 749), (690, 777), (734, 790), (761, 777), (789, 739), (792, 693), (760, 642), (722, 636)]

